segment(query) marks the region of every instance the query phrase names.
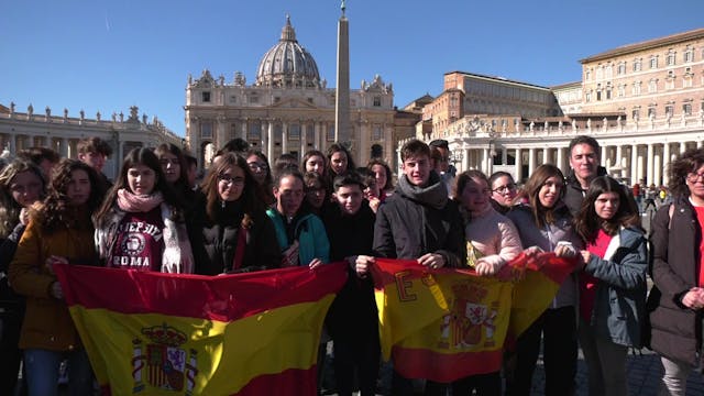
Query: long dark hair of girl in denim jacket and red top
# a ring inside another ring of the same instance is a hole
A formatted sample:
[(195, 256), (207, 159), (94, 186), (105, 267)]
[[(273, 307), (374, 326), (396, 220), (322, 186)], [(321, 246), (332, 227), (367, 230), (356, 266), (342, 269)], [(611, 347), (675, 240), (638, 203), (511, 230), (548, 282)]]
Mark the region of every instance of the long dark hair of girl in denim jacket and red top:
[[(614, 216), (604, 220), (596, 216), (594, 202), (602, 194), (615, 193), (618, 195), (618, 210)], [(609, 235), (618, 233), (620, 227), (640, 228), (640, 215), (628, 198), (626, 187), (614, 178), (600, 176), (592, 180), (586, 196), (582, 201), (580, 213), (574, 219), (574, 229), (586, 242), (594, 243), (600, 229)]]

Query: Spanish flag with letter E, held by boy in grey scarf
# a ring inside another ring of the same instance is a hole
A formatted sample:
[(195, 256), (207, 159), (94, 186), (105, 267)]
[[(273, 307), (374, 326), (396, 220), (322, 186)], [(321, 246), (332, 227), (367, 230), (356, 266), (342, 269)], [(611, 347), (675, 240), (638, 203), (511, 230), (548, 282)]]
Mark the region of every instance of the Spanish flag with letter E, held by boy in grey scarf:
[(499, 371), (505, 342), (544, 311), (573, 270), (553, 253), (521, 254), (496, 277), (376, 258), (383, 355), (405, 377), (441, 383)]

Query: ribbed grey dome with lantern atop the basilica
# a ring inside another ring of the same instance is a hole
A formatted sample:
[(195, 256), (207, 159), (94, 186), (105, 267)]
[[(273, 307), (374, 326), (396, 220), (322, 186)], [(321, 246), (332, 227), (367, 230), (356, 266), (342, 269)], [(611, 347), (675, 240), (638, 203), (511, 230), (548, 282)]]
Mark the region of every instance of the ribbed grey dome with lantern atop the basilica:
[(319, 87), (320, 75), (316, 59), (298, 44), (296, 32), (286, 15), (282, 38), (264, 54), (256, 68), (256, 86)]

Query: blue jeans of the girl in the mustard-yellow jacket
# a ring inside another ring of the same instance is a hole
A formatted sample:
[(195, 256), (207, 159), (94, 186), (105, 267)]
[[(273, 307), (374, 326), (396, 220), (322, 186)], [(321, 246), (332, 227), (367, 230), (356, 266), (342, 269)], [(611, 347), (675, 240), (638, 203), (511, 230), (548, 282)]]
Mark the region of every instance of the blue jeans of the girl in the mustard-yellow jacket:
[(29, 396), (58, 395), (58, 367), (64, 359), (68, 359), (68, 394), (92, 394), (92, 369), (84, 349), (68, 352), (28, 349), (24, 351), (24, 364)]

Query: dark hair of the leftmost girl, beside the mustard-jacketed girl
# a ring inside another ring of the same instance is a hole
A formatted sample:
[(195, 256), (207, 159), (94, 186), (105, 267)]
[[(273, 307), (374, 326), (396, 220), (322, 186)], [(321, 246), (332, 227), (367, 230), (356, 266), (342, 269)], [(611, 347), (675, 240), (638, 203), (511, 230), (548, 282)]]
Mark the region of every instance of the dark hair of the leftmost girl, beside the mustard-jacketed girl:
[(14, 160), (0, 173), (0, 238), (7, 238), (14, 227), (20, 222), (20, 211), (22, 206), (12, 198), (10, 185), (14, 177), (21, 173), (31, 172), (42, 183), (42, 190), (37, 198), (43, 200), (46, 196), (46, 180), (42, 169), (34, 163), (24, 160)]

